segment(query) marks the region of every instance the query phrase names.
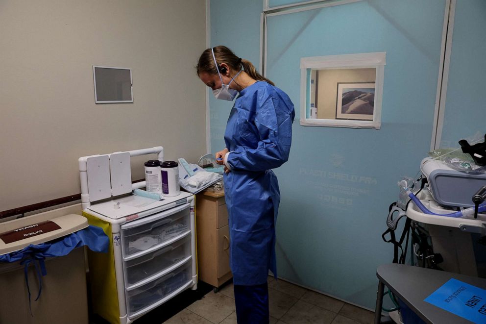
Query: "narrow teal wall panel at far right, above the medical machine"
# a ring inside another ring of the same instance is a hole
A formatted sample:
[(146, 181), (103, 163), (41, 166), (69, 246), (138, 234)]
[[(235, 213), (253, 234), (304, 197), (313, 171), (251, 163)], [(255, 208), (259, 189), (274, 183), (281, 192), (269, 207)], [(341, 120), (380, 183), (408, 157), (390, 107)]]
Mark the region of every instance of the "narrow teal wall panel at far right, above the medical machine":
[[(486, 133), (486, 1), (457, 1), (440, 147)], [(483, 142), (481, 140), (481, 142)]]

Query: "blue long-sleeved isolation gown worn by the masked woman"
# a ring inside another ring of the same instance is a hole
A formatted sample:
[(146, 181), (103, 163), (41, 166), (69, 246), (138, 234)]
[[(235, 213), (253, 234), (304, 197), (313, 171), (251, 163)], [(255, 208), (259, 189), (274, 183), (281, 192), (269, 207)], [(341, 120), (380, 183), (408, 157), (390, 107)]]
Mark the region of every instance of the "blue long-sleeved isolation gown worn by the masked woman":
[(264, 81), (243, 89), (231, 109), (224, 134), (231, 172), (224, 175), (224, 192), (235, 285), (266, 283), (268, 269), (277, 274), (280, 192), (271, 169), (289, 158), (294, 117), (289, 96)]

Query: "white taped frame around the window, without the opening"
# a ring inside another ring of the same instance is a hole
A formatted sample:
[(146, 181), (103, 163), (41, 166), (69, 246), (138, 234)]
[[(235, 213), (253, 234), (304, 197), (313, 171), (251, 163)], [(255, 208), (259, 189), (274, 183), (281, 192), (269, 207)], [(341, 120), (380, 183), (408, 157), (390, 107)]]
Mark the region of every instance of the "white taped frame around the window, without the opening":
[[(374, 128), (381, 127), (381, 106), (386, 52), (302, 57), (300, 59), (300, 125), (323, 127)], [(307, 118), (307, 70), (376, 69), (375, 102), (372, 121)]]

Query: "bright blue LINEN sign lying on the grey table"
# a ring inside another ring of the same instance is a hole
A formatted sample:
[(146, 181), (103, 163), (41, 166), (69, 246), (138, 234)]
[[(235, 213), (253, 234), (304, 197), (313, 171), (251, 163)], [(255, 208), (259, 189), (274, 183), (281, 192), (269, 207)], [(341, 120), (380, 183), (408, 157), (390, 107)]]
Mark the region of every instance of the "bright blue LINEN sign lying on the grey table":
[(486, 290), (450, 279), (424, 299), (474, 323), (486, 323)]

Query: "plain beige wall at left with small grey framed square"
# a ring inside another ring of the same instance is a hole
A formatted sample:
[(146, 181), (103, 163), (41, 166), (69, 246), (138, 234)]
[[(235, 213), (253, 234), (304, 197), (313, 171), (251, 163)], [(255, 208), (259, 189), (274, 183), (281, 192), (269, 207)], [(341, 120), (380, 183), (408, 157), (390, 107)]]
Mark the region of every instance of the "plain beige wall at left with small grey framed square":
[[(203, 0), (0, 0), (0, 211), (79, 193), (80, 156), (206, 153), (205, 24)], [(134, 103), (95, 104), (93, 65), (133, 69)]]

